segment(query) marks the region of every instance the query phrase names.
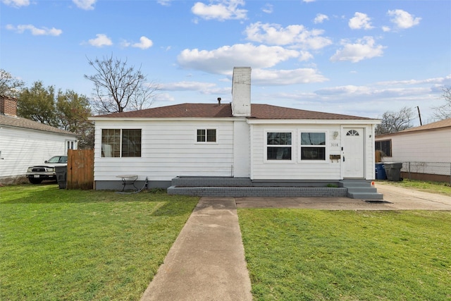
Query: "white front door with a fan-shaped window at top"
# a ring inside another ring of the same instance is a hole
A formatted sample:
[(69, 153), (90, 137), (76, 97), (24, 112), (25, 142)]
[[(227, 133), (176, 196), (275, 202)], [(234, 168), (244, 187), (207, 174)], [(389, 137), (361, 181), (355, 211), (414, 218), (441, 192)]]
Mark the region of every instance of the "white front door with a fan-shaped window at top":
[(343, 178), (364, 178), (364, 129), (343, 129)]

